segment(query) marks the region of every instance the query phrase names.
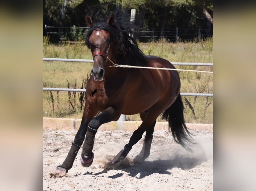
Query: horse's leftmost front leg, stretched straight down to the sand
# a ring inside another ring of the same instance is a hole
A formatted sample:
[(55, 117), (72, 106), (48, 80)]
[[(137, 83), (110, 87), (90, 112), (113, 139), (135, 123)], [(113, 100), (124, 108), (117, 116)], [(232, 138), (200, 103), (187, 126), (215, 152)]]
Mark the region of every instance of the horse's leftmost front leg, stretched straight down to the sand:
[(75, 158), (77, 156), (77, 153), (84, 142), (88, 123), (96, 114), (97, 114), (97, 111), (92, 110), (89, 104), (85, 105), (82, 121), (77, 131), (77, 134), (75, 136), (75, 139), (71, 145), (68, 156), (66, 157), (64, 162), (61, 165), (57, 166), (56, 168), (55, 172), (59, 176), (64, 176), (68, 172), (68, 170), (72, 168)]

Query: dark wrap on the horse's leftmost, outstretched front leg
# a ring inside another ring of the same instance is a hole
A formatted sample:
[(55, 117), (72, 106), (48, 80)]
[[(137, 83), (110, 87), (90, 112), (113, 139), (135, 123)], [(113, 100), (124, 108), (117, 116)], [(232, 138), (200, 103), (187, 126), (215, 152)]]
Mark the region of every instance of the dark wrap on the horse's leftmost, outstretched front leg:
[(65, 161), (58, 167), (65, 168), (66, 172), (68, 172), (68, 170), (71, 169), (73, 166), (73, 163), (75, 161), (75, 158), (77, 156), (79, 149), (80, 149), (80, 146), (72, 143), (68, 156), (66, 157)]

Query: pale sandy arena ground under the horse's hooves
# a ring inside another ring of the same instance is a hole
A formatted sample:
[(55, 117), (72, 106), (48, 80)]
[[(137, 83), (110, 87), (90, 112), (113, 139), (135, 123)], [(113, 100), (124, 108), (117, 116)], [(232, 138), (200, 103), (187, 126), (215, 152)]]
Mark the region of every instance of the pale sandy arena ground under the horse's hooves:
[(43, 129), (43, 190), (213, 190), (213, 131), (191, 130), (198, 141), (194, 153), (174, 142), (171, 133), (155, 130), (151, 154), (135, 161), (143, 139), (133, 146), (118, 166), (109, 162), (128, 143), (133, 131), (114, 130), (96, 133), (94, 162), (80, 164), (82, 149), (64, 177), (50, 177), (65, 160), (76, 130)]

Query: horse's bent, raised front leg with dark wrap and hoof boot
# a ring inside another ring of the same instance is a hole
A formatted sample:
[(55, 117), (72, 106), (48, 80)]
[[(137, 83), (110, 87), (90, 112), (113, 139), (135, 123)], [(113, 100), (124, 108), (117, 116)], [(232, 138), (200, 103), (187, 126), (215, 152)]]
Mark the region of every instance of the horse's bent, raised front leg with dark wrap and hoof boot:
[(117, 110), (113, 107), (108, 107), (89, 122), (81, 155), (81, 163), (84, 167), (89, 167), (93, 163), (94, 153), (92, 150), (98, 128), (104, 123), (117, 120), (119, 117), (120, 114)]

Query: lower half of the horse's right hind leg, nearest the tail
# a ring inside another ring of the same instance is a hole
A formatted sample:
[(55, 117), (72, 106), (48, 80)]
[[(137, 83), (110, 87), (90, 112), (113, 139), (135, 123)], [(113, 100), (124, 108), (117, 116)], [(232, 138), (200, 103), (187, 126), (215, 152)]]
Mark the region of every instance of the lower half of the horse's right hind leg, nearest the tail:
[[(143, 120), (145, 117), (145, 112), (140, 113), (140, 118)], [(140, 153), (136, 156), (139, 160), (145, 160), (150, 155), (151, 143), (153, 139), (153, 133), (155, 128), (156, 121), (151, 125), (149, 129), (146, 130), (146, 135), (143, 140), (143, 146)]]

